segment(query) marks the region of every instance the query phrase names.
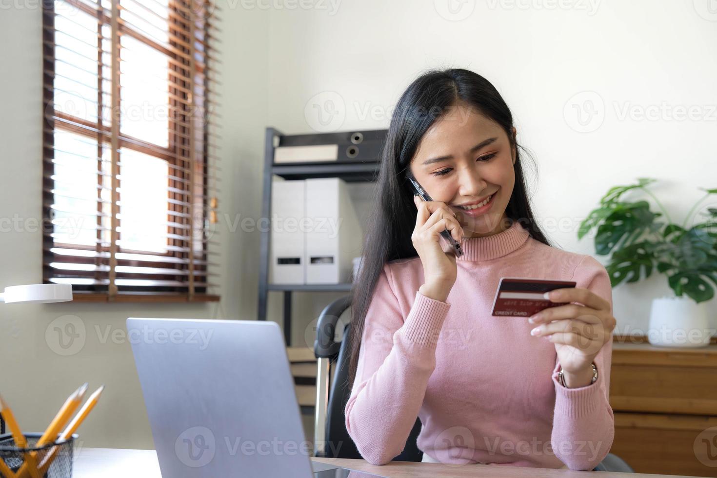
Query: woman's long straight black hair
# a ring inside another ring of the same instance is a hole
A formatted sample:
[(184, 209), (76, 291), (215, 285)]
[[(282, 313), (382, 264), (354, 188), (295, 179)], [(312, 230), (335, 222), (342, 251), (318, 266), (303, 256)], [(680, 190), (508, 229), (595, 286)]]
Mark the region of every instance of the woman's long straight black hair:
[(356, 377), (366, 312), (384, 264), (394, 259), (418, 256), (411, 240), (417, 209), (406, 177), (410, 173), (409, 164), (428, 128), (447, 113), (448, 108), (459, 102), (475, 107), (505, 130), (511, 147), (516, 150), (516, 163), (513, 165), (516, 182), (505, 210), (506, 216), (513, 221), (520, 221), (533, 239), (550, 245), (533, 217), (519, 149), (523, 149), (526, 156), (530, 155), (513, 138), (513, 115), (498, 90), (484, 77), (470, 70), (450, 68), (424, 72), (401, 95), (391, 116), (381, 152), (381, 166), (376, 178), (377, 204), (369, 217), (361, 272), (351, 290), (353, 301), (348, 386)]

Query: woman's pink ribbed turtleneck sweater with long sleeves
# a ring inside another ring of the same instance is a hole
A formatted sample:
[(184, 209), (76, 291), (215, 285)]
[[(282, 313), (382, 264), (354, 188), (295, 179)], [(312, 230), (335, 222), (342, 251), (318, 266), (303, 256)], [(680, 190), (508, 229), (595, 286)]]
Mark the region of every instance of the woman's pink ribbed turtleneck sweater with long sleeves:
[(401, 453), (419, 416), (418, 448), (439, 462), (593, 469), (614, 436), (612, 340), (595, 359), (598, 380), (564, 388), (555, 345), (533, 337), (527, 318), (490, 314), (500, 277), (572, 279), (612, 308), (607, 271), (518, 222), (462, 247), (446, 302), (417, 292), (419, 257), (384, 265), (346, 403), (348, 433), (371, 464)]

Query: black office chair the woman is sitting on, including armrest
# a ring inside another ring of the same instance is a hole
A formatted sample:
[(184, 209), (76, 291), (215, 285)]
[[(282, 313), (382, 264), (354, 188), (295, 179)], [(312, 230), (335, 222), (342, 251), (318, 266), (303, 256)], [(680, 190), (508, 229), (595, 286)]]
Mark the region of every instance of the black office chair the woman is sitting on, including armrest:
[[(318, 362), (314, 421), (316, 457), (361, 458), (356, 444), (346, 431), (346, 416), (343, 414), (348, 397), (351, 395), (351, 385), (348, 384), (348, 360), (351, 356), (348, 338), (351, 334), (351, 324), (344, 327), (341, 342), (334, 340), (338, 319), (348, 307), (351, 307), (351, 295), (339, 297), (324, 308), (316, 325), (314, 341), (314, 355)], [(335, 370), (333, 381), (329, 383), (332, 364)], [(394, 457), (394, 461), (420, 462), (422, 460), (423, 452), (416, 444), (420, 431), (421, 421), (417, 418), (403, 451)], [(635, 472), (624, 460), (612, 453), (607, 454), (594, 471)]]

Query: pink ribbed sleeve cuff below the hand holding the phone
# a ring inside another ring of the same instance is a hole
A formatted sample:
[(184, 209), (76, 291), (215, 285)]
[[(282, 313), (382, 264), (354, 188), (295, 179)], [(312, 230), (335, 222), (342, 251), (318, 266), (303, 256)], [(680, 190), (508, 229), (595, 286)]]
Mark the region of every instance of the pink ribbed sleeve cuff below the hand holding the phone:
[(413, 307), (400, 329), (404, 343), (436, 348), (438, 335), (449, 309), (449, 302), (431, 299), (421, 292), (416, 292)]

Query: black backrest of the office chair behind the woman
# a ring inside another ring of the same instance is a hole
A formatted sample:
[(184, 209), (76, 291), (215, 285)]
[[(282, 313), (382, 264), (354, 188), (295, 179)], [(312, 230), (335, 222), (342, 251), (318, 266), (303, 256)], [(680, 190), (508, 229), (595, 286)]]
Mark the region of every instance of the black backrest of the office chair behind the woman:
[[(343, 340), (338, 350), (338, 357), (333, 366), (336, 367), (333, 382), (328, 396), (326, 411), (326, 450), (328, 458), (361, 458), (356, 444), (346, 431), (346, 415), (343, 413), (351, 395), (351, 384), (348, 383), (348, 361), (351, 358), (351, 324), (343, 329)], [(416, 439), (421, 431), (421, 421), (416, 423), (409, 434), (404, 450), (394, 460), (400, 462), (420, 462), (423, 453), (418, 449)]]

